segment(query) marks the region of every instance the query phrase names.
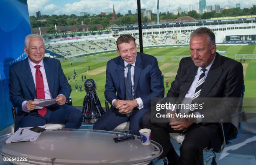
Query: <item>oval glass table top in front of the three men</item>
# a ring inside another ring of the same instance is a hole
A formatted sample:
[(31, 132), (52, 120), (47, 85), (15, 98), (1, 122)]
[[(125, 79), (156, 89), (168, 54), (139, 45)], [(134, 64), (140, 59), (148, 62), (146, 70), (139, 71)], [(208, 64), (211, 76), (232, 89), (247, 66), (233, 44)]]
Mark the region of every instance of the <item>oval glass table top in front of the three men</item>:
[(6, 157), (28, 157), (31, 163), (50, 164), (137, 164), (150, 162), (162, 153), (162, 147), (151, 140), (141, 144), (134, 140), (115, 143), (116, 132), (102, 130), (60, 129), (41, 133), (34, 142), (5, 144), (10, 135), (0, 137), (0, 154)]

